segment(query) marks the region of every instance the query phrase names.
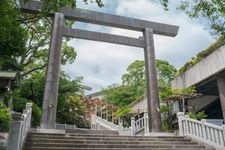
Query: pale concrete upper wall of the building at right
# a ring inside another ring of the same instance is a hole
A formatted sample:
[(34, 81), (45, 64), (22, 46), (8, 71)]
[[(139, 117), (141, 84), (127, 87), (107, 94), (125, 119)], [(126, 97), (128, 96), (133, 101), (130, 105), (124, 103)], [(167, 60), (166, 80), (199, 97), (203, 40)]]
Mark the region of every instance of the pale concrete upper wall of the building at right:
[(185, 88), (200, 83), (225, 70), (225, 45), (205, 59), (177, 76), (172, 81), (173, 88)]

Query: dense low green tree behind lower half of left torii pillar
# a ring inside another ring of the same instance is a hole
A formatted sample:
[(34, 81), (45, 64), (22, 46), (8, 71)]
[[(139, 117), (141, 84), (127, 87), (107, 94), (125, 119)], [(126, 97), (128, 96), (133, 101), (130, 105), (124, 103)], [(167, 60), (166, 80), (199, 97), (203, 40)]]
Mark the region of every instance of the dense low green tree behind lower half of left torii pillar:
[[(45, 72), (33, 72), (29, 77), (21, 79), (13, 90), (15, 111), (22, 111), (28, 101), (33, 102), (33, 126), (38, 126), (40, 123), (44, 84)], [(81, 116), (84, 115), (85, 109), (78, 93), (79, 84), (79, 81), (71, 80), (64, 72), (61, 72), (57, 105), (58, 123), (83, 126)]]

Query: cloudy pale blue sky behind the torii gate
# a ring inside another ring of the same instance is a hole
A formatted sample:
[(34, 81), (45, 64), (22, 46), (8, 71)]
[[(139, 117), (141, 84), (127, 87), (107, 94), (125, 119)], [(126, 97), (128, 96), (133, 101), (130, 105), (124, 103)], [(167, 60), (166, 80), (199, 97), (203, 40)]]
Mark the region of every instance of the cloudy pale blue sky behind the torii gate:
[[(156, 1), (156, 0), (155, 0)], [(199, 51), (213, 42), (204, 20), (193, 20), (184, 13), (176, 11), (176, 0), (170, 1), (171, 10), (164, 11), (161, 4), (154, 0), (103, 0), (104, 8), (95, 4), (85, 5), (78, 2), (77, 7), (104, 13), (122, 15), (143, 20), (178, 25), (179, 32), (175, 38), (154, 35), (156, 58), (165, 59), (180, 68)], [(158, 1), (158, 0), (157, 0)], [(142, 36), (140, 32), (109, 28), (76, 22), (73, 28), (130, 37)], [(109, 43), (73, 39), (70, 45), (76, 49), (77, 59), (64, 69), (72, 79), (83, 76), (83, 83), (92, 87), (93, 93), (113, 83), (121, 83), (121, 76), (129, 64), (144, 59), (144, 51)]]

